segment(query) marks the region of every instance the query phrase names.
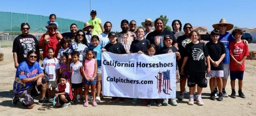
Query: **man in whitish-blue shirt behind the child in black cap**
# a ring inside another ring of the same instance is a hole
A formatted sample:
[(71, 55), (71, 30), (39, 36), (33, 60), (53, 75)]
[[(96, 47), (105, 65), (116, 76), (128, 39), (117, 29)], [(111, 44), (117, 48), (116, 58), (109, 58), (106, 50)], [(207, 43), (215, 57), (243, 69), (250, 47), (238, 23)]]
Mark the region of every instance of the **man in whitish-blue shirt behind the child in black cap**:
[(111, 31), (112, 28), (112, 23), (110, 22), (106, 22), (104, 24), (104, 32), (100, 33), (100, 35), (98, 35), (98, 37), (100, 38), (100, 45), (102, 46), (102, 48), (104, 48), (107, 44), (109, 44), (109, 32)]

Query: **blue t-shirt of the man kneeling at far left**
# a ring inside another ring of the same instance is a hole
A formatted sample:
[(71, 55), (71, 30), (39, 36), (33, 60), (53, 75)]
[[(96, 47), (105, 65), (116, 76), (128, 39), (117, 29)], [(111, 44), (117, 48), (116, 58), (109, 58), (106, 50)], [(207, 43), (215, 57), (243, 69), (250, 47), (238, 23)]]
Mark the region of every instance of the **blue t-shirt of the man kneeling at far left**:
[(32, 66), (28, 65), (27, 61), (23, 61), (22, 63), (20, 63), (16, 70), (15, 80), (13, 84), (14, 94), (25, 91), (34, 83), (34, 81), (31, 81), (30, 83), (22, 83), (21, 79), (32, 78), (41, 73), (43, 73), (43, 70), (40, 68), (38, 62), (35, 62)]

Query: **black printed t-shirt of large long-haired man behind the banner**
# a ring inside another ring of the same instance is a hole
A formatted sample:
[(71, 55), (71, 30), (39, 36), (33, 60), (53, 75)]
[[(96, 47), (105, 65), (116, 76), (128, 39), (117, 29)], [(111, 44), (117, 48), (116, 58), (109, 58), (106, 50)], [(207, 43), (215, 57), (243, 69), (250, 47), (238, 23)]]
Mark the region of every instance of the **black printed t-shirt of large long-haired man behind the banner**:
[(156, 54), (159, 54), (159, 50), (161, 48), (163, 48), (164, 46), (164, 40), (163, 40), (163, 37), (166, 36), (166, 35), (169, 35), (169, 36), (172, 36), (172, 38), (174, 38), (174, 40), (172, 41), (172, 45), (176, 44), (177, 41), (176, 41), (176, 38), (174, 37), (174, 35), (172, 34), (171, 31), (168, 31), (166, 29), (164, 29), (162, 32), (156, 32), (156, 31), (153, 31), (151, 33), (148, 33), (147, 35), (147, 40), (150, 41), (150, 44), (154, 44), (155, 47), (156, 47)]

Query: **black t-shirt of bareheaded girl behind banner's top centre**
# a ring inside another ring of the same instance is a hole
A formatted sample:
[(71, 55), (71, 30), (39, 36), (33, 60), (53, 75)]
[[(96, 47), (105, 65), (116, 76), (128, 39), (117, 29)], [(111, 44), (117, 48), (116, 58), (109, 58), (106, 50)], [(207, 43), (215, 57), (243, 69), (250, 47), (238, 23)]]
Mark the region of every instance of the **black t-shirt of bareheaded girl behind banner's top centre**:
[(147, 51), (147, 46), (150, 45), (150, 42), (146, 40), (145, 38), (141, 41), (139, 40), (134, 40), (131, 42), (131, 48), (130, 51), (132, 53), (137, 53), (138, 51)]

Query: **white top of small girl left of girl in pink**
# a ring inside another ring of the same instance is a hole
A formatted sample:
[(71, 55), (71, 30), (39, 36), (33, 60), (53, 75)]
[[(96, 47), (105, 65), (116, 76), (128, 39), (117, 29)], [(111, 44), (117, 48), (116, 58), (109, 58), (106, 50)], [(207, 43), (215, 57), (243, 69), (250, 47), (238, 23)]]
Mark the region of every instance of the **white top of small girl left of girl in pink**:
[(71, 63), (70, 65), (71, 69), (71, 83), (79, 84), (82, 83), (82, 63), (79, 62), (79, 64), (75, 65), (74, 63)]

